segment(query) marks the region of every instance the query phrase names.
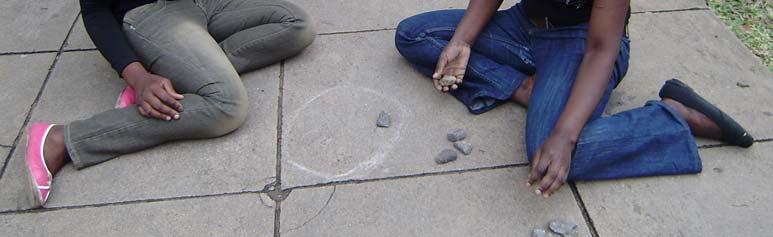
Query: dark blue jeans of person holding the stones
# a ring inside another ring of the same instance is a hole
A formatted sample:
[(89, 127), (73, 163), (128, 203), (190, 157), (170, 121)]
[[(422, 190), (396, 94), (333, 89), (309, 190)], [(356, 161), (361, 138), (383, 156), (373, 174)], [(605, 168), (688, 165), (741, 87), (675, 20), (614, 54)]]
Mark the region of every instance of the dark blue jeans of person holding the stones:
[[(454, 34), (463, 10), (419, 14), (400, 22), (396, 45), (420, 73), (431, 76)], [(585, 53), (587, 24), (536, 28), (520, 4), (499, 11), (472, 45), (464, 84), (451, 94), (473, 114), (510, 100), (536, 74), (526, 118), (529, 161), (550, 136), (566, 106)], [(570, 180), (601, 180), (699, 173), (698, 147), (690, 127), (669, 105), (644, 107), (601, 117), (609, 95), (628, 70), (629, 40), (620, 54), (599, 105), (580, 133)]]

